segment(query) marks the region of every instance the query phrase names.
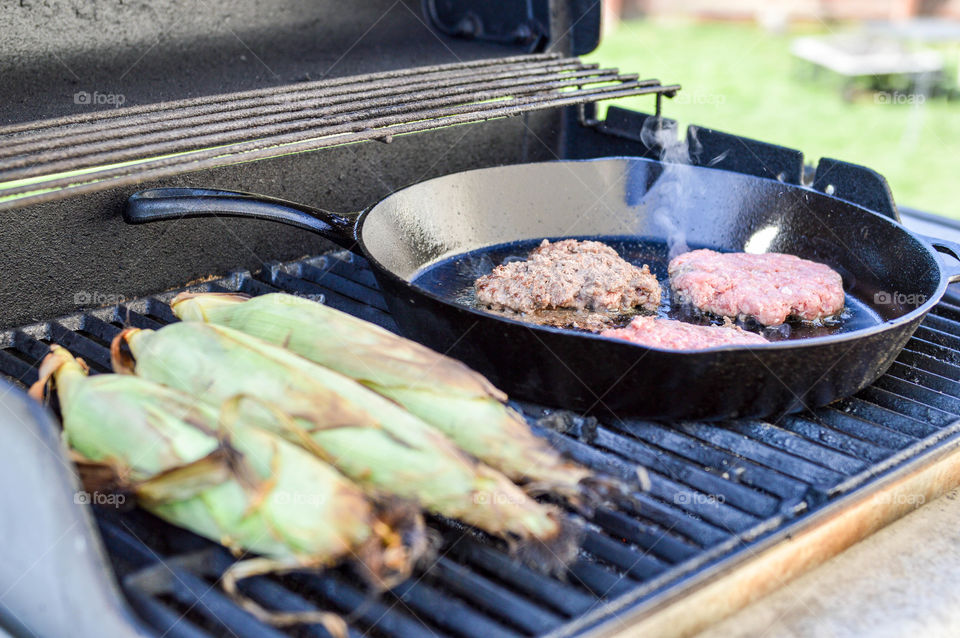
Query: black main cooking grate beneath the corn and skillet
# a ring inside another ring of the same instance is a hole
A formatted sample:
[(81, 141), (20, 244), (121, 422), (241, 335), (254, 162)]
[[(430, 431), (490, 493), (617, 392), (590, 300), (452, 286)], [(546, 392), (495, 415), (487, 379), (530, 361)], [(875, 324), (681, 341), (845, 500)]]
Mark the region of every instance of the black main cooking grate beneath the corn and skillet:
[[(365, 262), (347, 253), (236, 273), (197, 289), (322, 295), (333, 307), (396, 329)], [(173, 294), (0, 333), (0, 372), (32, 383), (35, 363), (52, 342), (106, 370), (107, 344), (124, 325), (155, 328), (174, 319), (166, 305)], [(637, 510), (596, 512), (565, 578), (538, 573), (497, 542), (436, 520), (431, 525), (444, 539), (439, 558), (377, 599), (339, 570), (256, 578), (244, 586), (268, 607), (350, 615), (355, 636), (564, 634), (601, 613), (604, 603), (642, 600), (675, 586), (955, 434), (957, 378), (960, 306), (941, 303), (877, 384), (776, 423), (598, 423), (521, 405), (539, 433), (578, 461), (613, 474), (629, 474), (637, 463), (650, 472), (651, 488), (639, 495)], [(140, 510), (96, 514), (124, 592), (158, 632), (324, 635), (317, 627), (287, 634), (236, 607), (214, 586), (233, 560), (219, 546)]]

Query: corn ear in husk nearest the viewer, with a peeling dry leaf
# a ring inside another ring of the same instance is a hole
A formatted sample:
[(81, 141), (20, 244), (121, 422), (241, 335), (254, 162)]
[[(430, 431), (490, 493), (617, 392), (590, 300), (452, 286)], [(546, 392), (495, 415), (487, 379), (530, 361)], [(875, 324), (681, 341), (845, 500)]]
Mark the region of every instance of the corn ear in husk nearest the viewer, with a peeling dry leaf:
[[(231, 593), (237, 577), (324, 567), (347, 557), (358, 558), (378, 587), (409, 575), (416, 556), (388, 515), (313, 454), (250, 425), (241, 399), (224, 404), (231, 412), (227, 424), (216, 408), (145, 379), (89, 377), (59, 346), (44, 359), (40, 378), (31, 394), (41, 398), (53, 381), (64, 438), (81, 461), (108, 467), (160, 518), (236, 553), (262, 555), (237, 563), (225, 579)], [(411, 520), (422, 532), (419, 515)], [(266, 620), (278, 620), (244, 602)], [(336, 615), (324, 612), (280, 618), (343, 628)]]

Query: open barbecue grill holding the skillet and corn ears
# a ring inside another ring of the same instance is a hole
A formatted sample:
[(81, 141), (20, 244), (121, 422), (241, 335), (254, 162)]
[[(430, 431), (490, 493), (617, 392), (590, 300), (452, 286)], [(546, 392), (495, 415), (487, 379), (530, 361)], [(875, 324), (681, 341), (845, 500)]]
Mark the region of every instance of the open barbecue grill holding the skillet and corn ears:
[[(0, 182), (20, 180), (0, 197), (0, 471), (12, 488), (0, 499), (2, 626), (325, 635), (268, 627), (235, 605), (216, 586), (234, 560), (219, 546), (116, 500), (88, 505), (97, 499), (78, 489), (54, 421), (22, 390), (51, 343), (108, 370), (110, 340), (173, 321), (167, 303), (182, 289), (284, 291), (396, 324), (368, 265), (314, 235), (256, 220), (126, 226), (127, 197), (216, 186), (359, 210), (458, 170), (656, 159), (641, 132), (679, 87), (578, 61), (600, 26), (599, 3), (581, 0), (245, 0), (229, 16), (174, 0), (62, 4), (0, 9), (0, 89), (16, 96), (0, 104)], [(651, 113), (598, 118), (598, 100), (634, 94), (651, 94)], [(810, 170), (795, 150), (688, 135), (693, 164), (898, 215), (867, 168), (824, 159)], [(339, 570), (243, 588), (272, 609), (336, 610), (356, 636), (689, 634), (960, 484), (958, 372), (960, 296), (948, 292), (886, 375), (813, 412), (705, 424), (518, 405), (579, 462), (650, 473), (635, 506), (589, 519), (566, 573), (433, 520), (436, 559), (378, 598)]]

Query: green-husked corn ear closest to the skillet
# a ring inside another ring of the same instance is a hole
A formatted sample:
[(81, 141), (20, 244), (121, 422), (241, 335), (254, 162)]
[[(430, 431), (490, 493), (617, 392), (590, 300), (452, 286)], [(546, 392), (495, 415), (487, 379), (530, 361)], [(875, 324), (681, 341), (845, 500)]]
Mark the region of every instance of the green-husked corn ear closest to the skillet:
[(183, 293), (171, 303), (205, 321), (282, 345), (390, 397), (511, 479), (579, 499), (593, 474), (564, 459), (463, 363), (372, 323), (293, 295)]

